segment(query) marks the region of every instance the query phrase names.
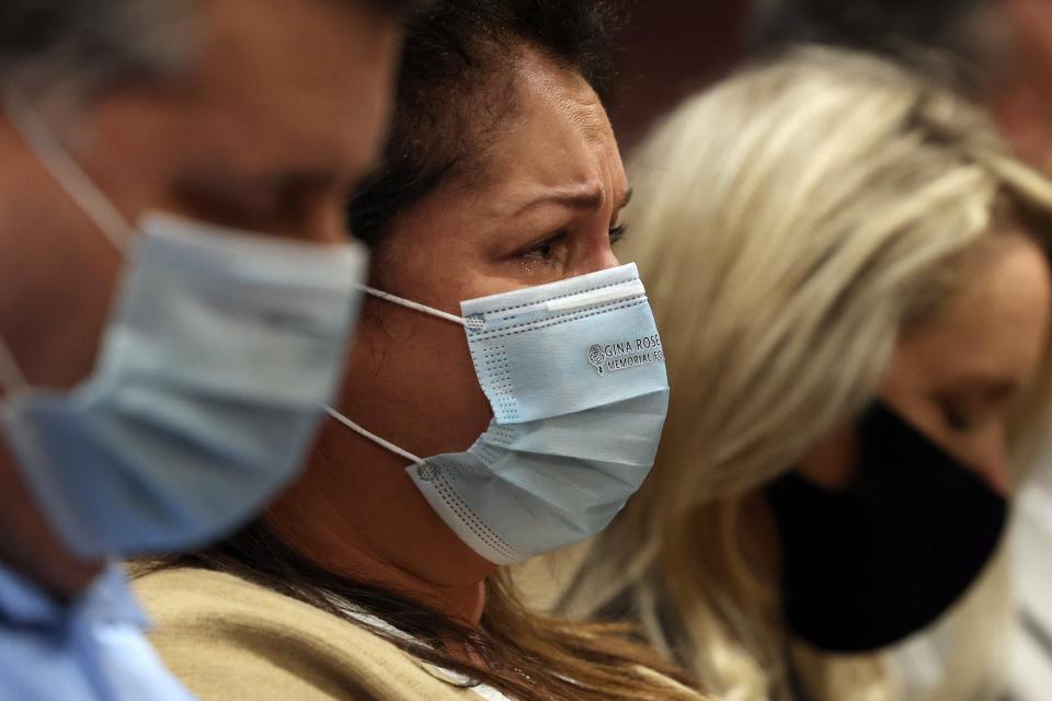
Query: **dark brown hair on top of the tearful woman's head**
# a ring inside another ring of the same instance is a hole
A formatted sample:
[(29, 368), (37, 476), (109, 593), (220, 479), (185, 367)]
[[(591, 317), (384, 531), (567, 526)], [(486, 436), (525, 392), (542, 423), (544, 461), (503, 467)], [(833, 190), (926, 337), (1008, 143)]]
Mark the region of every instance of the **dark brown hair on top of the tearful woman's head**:
[(375, 246), (398, 215), (482, 166), (493, 128), (515, 110), (522, 49), (580, 73), (608, 103), (620, 16), (609, 0), (454, 0), (410, 22), (384, 158), (347, 206), (354, 234)]

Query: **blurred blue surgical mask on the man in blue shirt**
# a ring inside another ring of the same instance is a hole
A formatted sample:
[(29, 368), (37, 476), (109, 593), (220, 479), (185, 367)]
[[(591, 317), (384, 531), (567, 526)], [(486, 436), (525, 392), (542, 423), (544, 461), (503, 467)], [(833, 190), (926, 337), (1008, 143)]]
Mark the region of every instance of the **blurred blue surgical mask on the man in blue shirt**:
[(80, 386), (30, 387), (0, 343), (5, 443), (80, 555), (219, 537), (300, 466), (342, 374), (367, 256), (168, 215), (133, 229), (38, 119), (11, 114), (125, 267)]

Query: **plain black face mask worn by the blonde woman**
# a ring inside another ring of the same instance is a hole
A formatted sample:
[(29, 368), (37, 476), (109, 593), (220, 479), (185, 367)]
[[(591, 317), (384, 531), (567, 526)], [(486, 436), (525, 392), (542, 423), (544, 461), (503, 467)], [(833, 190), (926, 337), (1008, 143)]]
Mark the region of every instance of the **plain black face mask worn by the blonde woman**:
[(884, 647), (935, 622), (982, 572), (1008, 512), (977, 473), (882, 402), (858, 437), (847, 489), (793, 471), (765, 490), (789, 630), (837, 653)]

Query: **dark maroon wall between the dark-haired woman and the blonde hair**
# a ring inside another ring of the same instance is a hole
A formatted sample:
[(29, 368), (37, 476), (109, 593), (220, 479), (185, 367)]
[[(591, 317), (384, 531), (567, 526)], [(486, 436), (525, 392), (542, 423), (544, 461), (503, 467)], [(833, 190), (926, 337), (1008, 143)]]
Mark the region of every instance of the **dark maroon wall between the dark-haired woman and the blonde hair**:
[(636, 0), (624, 35), (614, 128), (629, 150), (653, 120), (741, 55), (746, 0)]

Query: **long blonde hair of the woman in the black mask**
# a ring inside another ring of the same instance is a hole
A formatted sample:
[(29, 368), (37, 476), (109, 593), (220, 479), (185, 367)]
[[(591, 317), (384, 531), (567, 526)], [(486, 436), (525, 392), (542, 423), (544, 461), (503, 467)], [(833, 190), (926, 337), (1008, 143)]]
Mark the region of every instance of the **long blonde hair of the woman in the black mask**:
[[(744, 555), (750, 497), (871, 400), (970, 252), (1009, 229), (1048, 252), (1052, 185), (949, 93), (808, 47), (689, 100), (631, 171), (624, 253), (648, 281), (672, 404), (650, 480), (562, 607), (634, 619), (713, 693), (767, 699), (790, 655), (773, 574)], [(1019, 463), (1050, 367), (1011, 436)], [(878, 657), (791, 657), (819, 698), (892, 698)]]

